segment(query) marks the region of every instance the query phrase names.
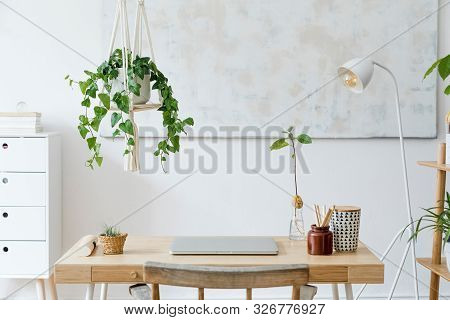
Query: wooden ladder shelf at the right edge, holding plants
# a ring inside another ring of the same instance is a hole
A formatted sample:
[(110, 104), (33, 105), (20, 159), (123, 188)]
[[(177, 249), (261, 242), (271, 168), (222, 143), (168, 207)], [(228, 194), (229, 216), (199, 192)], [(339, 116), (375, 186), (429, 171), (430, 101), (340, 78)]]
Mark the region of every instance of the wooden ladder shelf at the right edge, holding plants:
[[(445, 164), (445, 143), (438, 148), (437, 161), (418, 161), (421, 166), (434, 168), (437, 171), (436, 178), (436, 213), (444, 210), (445, 179), (450, 165)], [(439, 299), (439, 280), (444, 278), (450, 280), (450, 272), (447, 269), (445, 259), (441, 258), (442, 232), (435, 230), (433, 235), (433, 248), (431, 258), (418, 258), (417, 262), (431, 271), (430, 278), (430, 300)]]

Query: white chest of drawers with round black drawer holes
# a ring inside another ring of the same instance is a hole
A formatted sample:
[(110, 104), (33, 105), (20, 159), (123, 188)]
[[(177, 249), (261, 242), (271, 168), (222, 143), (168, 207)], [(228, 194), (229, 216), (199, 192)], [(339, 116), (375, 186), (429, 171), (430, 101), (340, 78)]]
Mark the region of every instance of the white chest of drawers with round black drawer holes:
[(40, 279), (41, 298), (61, 254), (61, 187), (58, 134), (0, 135), (0, 278)]

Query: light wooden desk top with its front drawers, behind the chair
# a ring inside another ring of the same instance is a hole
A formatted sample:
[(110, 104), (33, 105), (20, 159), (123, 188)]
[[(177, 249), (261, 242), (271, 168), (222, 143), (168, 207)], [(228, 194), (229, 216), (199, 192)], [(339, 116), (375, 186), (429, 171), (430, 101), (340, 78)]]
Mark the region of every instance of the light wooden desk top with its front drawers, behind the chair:
[[(306, 241), (274, 237), (278, 255), (171, 255), (173, 237), (129, 236), (122, 255), (105, 256), (97, 248), (80, 257), (75, 244), (55, 265), (57, 283), (137, 283), (143, 281), (146, 261), (211, 266), (307, 264), (310, 283), (383, 283), (383, 263), (363, 244), (355, 252), (311, 256)], [(81, 241), (81, 240), (80, 240)]]

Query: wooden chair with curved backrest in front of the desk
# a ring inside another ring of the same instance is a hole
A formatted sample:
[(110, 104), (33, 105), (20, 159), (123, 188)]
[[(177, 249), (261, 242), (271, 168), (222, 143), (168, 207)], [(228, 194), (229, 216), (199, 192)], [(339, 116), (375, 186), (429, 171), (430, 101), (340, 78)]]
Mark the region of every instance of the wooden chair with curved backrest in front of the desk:
[(308, 282), (304, 264), (259, 267), (216, 267), (146, 262), (144, 281), (151, 284), (152, 299), (159, 300), (159, 285), (198, 288), (198, 299), (205, 299), (206, 289), (246, 289), (292, 286), (292, 300), (300, 299), (300, 287)]

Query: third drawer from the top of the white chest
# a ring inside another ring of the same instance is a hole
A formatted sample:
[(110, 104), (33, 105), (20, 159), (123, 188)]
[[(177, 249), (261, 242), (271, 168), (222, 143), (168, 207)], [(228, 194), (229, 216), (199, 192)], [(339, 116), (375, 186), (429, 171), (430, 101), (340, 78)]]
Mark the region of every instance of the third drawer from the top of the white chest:
[(45, 207), (0, 207), (1, 240), (45, 240)]

